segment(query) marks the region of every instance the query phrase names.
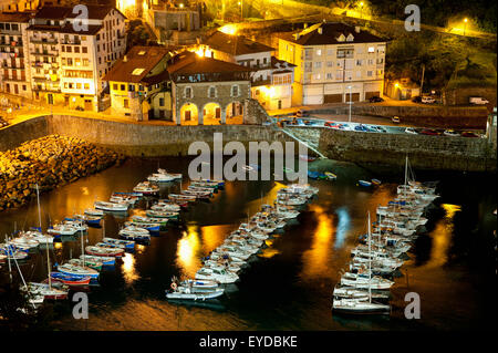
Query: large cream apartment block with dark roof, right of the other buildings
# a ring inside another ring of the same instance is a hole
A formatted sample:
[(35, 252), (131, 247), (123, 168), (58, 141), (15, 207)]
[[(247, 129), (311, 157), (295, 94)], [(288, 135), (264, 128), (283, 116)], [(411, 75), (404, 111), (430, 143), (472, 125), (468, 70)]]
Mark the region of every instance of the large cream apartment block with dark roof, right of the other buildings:
[(279, 38), (279, 59), (295, 65), (292, 103), (382, 96), (386, 41), (360, 27), (322, 22)]

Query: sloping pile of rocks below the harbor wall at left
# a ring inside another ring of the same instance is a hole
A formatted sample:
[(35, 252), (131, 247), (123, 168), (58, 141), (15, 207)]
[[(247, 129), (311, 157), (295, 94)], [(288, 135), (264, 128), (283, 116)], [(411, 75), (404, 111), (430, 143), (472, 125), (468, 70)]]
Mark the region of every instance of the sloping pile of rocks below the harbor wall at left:
[(40, 191), (120, 164), (124, 156), (86, 141), (49, 135), (0, 152), (0, 211), (19, 207)]

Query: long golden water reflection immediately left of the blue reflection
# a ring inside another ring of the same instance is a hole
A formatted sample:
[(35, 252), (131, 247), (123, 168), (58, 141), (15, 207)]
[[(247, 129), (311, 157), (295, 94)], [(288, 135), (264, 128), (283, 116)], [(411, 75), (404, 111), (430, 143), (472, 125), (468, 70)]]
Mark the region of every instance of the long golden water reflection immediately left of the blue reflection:
[[(328, 215), (325, 209), (318, 205), (310, 205), (310, 210), (314, 212), (318, 227), (313, 233), (311, 249), (304, 251), (302, 256), (303, 268), (301, 277), (304, 279), (324, 277), (333, 272), (331, 267), (326, 266), (332, 255), (332, 235), (335, 233), (332, 216)], [(331, 273), (324, 273), (325, 271)]]

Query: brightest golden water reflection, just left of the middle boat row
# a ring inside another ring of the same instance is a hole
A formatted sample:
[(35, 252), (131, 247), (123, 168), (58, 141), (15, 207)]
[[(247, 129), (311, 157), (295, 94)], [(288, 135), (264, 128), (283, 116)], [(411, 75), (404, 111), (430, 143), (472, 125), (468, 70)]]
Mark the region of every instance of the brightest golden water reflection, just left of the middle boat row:
[(177, 262), (188, 277), (194, 277), (201, 266), (198, 256), (199, 248), (198, 227), (196, 225), (189, 225), (187, 226), (187, 231), (184, 231), (184, 236), (178, 240), (176, 251)]

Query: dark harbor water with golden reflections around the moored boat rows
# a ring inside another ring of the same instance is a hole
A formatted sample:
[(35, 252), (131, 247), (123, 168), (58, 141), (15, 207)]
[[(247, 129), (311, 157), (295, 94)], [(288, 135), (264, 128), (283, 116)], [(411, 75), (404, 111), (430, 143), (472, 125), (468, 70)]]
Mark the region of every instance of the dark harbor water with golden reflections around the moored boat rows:
[[(106, 200), (112, 191), (129, 191), (160, 163), (169, 172), (184, 173), (185, 158), (128, 159), (98, 175), (80, 179), (41, 196), (42, 222), (56, 222), (74, 211)], [(322, 166), (323, 167), (323, 166)], [(89, 292), (90, 319), (73, 319), (72, 302), (58, 302), (51, 328), (56, 330), (496, 330), (496, 229), (495, 176), (461, 173), (417, 174), (418, 180), (439, 179), (437, 208), (430, 212), (427, 233), (412, 248), (402, 277), (392, 288), (391, 315), (343, 316), (331, 311), (331, 294), (340, 270), (350, 259), (357, 236), (365, 232), (366, 212), (375, 211), (395, 195), (403, 170), (369, 170), (331, 162), (326, 166), (338, 181), (310, 180), (318, 197), (284, 232), (267, 241), (255, 260), (227, 287), (220, 300), (181, 304), (168, 302), (165, 290), (172, 276), (193, 277), (200, 258), (225, 237), (272, 200), (277, 181), (227, 183), (210, 203), (198, 203), (183, 215), (179, 227), (153, 237), (102, 271), (100, 285)], [(380, 187), (365, 190), (360, 178), (381, 178)], [(179, 184), (164, 187), (178, 190)], [(144, 214), (146, 203), (131, 214)], [(127, 217), (105, 216), (105, 235), (117, 238)], [(0, 214), (0, 237), (38, 225), (37, 203)], [(102, 228), (90, 228), (87, 243), (103, 237)], [(50, 250), (52, 263), (81, 253), (79, 238), (64, 238)], [(2, 281), (7, 280), (7, 266)], [(45, 251), (32, 253), (21, 264), (29, 281), (46, 278)], [(17, 280), (19, 280), (17, 278)], [(421, 297), (419, 320), (404, 316), (407, 292)]]

